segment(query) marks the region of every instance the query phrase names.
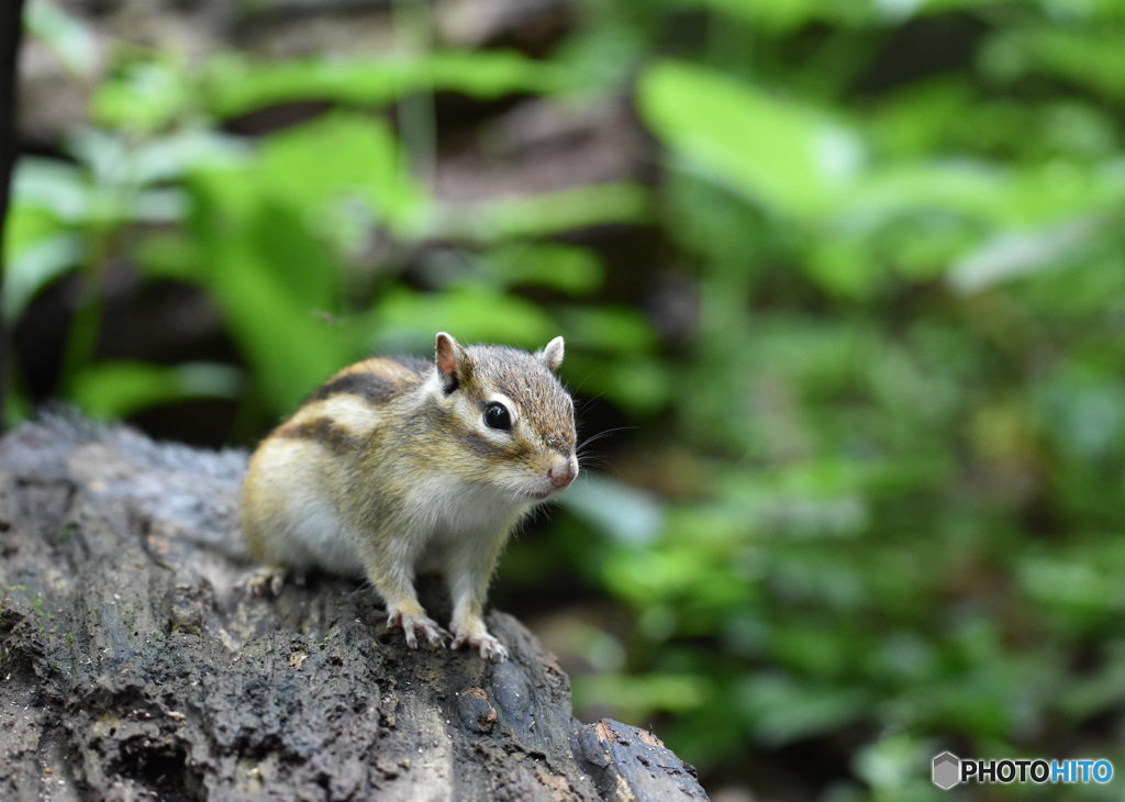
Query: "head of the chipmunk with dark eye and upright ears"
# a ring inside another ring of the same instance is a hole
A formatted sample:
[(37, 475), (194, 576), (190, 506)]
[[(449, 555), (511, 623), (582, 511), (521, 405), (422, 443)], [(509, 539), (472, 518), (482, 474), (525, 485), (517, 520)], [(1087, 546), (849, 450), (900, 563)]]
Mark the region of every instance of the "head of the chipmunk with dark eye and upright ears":
[[(541, 501), (574, 481), (574, 402), (555, 376), (562, 337), (534, 353), (501, 345), (465, 346), (438, 334), (438, 379), (465, 447), (466, 477), (520, 501)], [(479, 468), (486, 468), (480, 471)]]

